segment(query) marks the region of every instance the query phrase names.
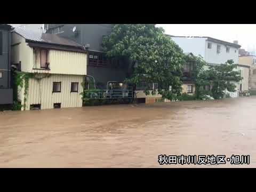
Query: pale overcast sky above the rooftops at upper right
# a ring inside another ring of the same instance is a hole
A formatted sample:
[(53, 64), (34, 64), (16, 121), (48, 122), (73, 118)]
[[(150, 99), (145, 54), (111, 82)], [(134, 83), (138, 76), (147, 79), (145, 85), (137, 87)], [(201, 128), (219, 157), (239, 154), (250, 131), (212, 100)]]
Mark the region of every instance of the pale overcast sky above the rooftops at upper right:
[(157, 27), (163, 27), (169, 35), (208, 36), (231, 43), (238, 40), (242, 49), (256, 51), (255, 24), (157, 24)]

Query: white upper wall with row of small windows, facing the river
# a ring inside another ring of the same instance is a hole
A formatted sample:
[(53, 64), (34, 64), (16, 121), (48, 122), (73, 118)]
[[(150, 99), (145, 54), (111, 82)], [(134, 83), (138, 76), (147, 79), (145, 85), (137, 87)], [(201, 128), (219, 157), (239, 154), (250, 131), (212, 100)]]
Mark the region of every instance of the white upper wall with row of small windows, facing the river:
[[(212, 43), (212, 48), (208, 49), (208, 42)], [(220, 53), (217, 53), (217, 45), (220, 45)], [(215, 43), (211, 41), (205, 41), (205, 61), (207, 63), (221, 64), (232, 59), (235, 64), (238, 64), (238, 49), (236, 47), (229, 47), (229, 53), (226, 52), (226, 45)], [(235, 52), (236, 50), (236, 52)]]

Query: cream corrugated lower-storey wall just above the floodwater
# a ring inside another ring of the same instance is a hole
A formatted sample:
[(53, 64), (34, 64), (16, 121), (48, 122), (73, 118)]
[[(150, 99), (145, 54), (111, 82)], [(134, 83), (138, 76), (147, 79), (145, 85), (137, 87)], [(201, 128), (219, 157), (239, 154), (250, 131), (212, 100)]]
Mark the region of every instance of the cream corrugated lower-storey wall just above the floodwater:
[[(50, 77), (45, 77), (39, 82), (35, 78), (29, 79), (29, 89), (26, 103), (26, 110), (29, 110), (30, 105), (40, 104), (41, 109), (53, 108), (53, 103), (61, 103), (61, 108), (64, 107), (82, 107), (83, 87), (81, 83), (84, 80), (82, 75), (59, 75), (51, 74)], [(61, 82), (61, 92), (53, 93), (53, 82)], [(71, 82), (78, 82), (78, 93), (70, 92)]]

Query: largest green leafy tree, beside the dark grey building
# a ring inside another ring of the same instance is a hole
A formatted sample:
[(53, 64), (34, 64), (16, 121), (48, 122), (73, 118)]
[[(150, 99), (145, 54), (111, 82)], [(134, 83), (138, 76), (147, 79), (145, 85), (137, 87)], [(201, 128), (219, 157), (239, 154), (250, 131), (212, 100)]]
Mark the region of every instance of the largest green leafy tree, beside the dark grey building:
[[(116, 24), (103, 37), (102, 49), (108, 57), (122, 58), (129, 66), (126, 81), (158, 83), (152, 94), (174, 99), (181, 93), (180, 77), (184, 55), (180, 47), (154, 24)], [(172, 90), (170, 90), (172, 86)], [(149, 94), (146, 86), (145, 93)]]

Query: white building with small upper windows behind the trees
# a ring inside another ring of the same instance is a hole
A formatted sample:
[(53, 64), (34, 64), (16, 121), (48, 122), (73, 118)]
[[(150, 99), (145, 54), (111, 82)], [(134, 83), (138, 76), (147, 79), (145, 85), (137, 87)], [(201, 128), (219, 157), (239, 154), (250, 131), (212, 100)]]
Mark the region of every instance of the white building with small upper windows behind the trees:
[[(183, 52), (191, 52), (194, 55), (201, 55), (208, 65), (220, 65), (232, 59), (235, 64), (238, 64), (238, 49), (241, 45), (230, 43), (211, 37), (186, 37), (186, 36), (171, 36), (171, 39), (177, 43)], [(240, 69), (236, 69), (240, 70)], [(238, 97), (239, 84), (236, 92), (230, 92), (231, 97)]]

